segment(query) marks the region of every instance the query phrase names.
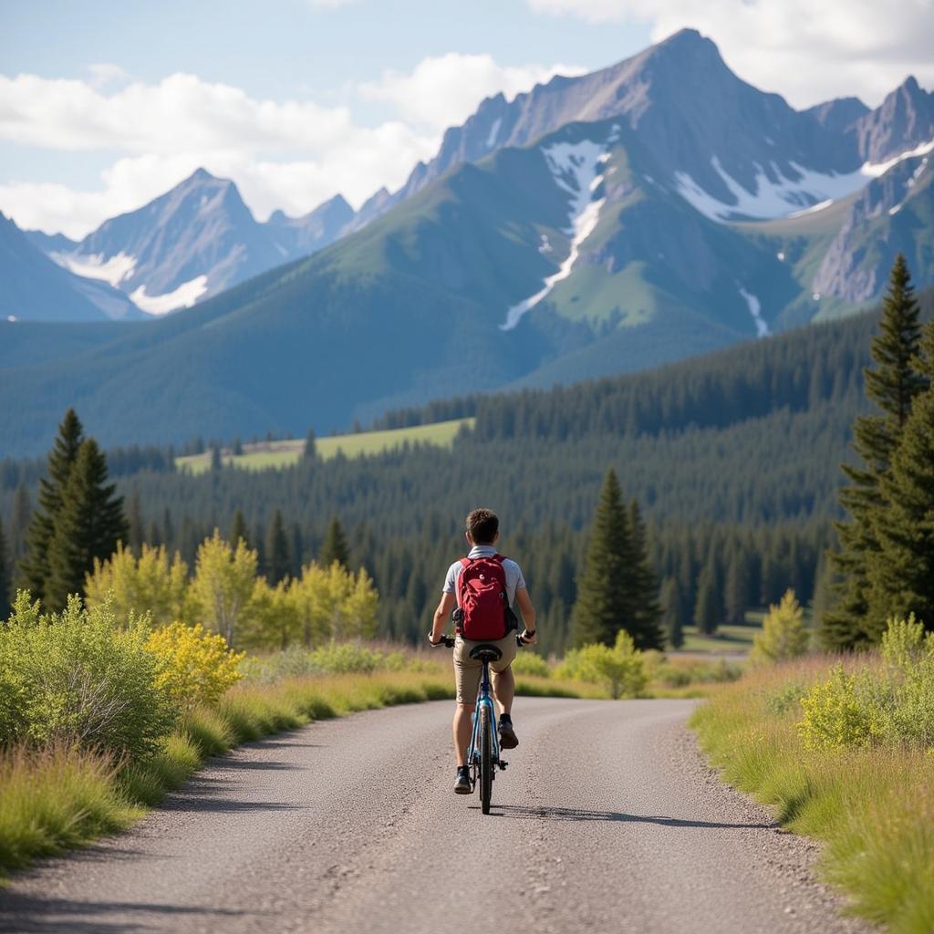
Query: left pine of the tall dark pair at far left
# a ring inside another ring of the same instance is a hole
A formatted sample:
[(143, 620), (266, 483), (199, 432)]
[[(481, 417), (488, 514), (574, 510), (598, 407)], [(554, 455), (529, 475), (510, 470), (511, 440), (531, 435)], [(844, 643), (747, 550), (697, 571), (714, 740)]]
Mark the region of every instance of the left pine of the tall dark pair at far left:
[(83, 441), (83, 429), (74, 409), (68, 409), (59, 425), (55, 445), (49, 454), (47, 476), (39, 480), (39, 502), (26, 532), (26, 554), (21, 561), (21, 587), (33, 598), (46, 596), (46, 582), (50, 576), (49, 547), (56, 529), (62, 506), (64, 488), (72, 466), (78, 459), (78, 448)]

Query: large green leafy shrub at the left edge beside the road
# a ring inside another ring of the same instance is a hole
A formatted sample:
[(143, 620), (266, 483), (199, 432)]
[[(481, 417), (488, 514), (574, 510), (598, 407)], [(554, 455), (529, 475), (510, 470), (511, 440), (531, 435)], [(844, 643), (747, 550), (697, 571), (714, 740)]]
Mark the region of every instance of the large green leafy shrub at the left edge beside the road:
[(155, 686), (148, 636), (145, 618), (131, 616), (120, 627), (107, 603), (88, 610), (73, 596), (61, 614), (40, 616), (29, 594), (19, 593), (0, 630), (0, 693), (15, 701), (7, 742), (149, 756), (175, 711)]

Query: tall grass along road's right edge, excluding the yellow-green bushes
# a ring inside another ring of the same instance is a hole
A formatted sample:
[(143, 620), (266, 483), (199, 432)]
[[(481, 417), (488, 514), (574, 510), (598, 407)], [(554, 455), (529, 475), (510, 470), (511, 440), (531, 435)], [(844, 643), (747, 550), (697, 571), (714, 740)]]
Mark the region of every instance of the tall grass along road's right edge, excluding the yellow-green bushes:
[(773, 805), (787, 828), (826, 842), (821, 870), (855, 913), (897, 934), (930, 934), (934, 753), (902, 743), (809, 749), (796, 729), (800, 697), (838, 660), (750, 672), (716, 688), (692, 725), (729, 782)]

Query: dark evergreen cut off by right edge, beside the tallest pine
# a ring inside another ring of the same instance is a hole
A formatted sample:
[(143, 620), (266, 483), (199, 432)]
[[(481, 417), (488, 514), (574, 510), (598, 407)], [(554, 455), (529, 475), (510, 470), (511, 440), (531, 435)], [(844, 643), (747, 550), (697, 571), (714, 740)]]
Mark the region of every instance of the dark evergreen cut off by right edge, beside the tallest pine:
[(915, 400), (882, 492), (863, 628), (874, 641), (889, 616), (913, 613), (934, 630), (934, 387)]

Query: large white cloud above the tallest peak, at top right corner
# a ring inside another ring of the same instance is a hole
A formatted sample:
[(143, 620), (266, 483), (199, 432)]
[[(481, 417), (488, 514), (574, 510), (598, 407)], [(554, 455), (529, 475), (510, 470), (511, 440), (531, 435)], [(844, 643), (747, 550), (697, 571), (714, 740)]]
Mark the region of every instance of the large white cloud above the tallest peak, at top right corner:
[(655, 40), (694, 26), (737, 74), (794, 106), (855, 94), (870, 106), (909, 74), (934, 86), (934, 0), (526, 0), (591, 22), (642, 21)]

